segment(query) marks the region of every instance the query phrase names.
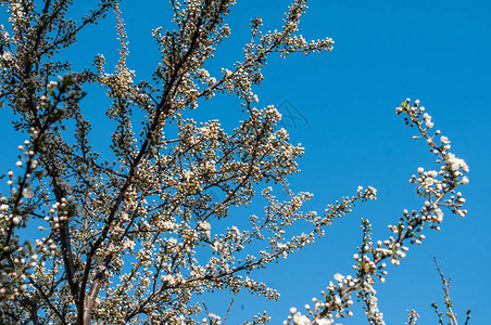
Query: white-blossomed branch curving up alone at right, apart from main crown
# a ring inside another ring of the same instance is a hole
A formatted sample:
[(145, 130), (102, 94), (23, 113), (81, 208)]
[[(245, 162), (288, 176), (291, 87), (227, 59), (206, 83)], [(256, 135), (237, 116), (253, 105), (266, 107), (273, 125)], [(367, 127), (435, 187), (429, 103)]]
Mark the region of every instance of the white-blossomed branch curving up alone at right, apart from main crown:
[[(406, 125), (417, 129), (419, 134), (414, 139), (425, 139), (439, 164), (438, 170), (425, 171), (419, 167), (417, 176), (410, 180), (416, 184), (417, 196), (425, 199), (423, 206), (411, 212), (404, 210), (399, 222), (389, 225), (393, 235), (388, 239), (377, 240), (375, 247), (372, 242), (372, 225), (367, 220), (363, 220), (363, 243), (358, 253), (353, 257), (355, 260), (353, 269), (356, 270), (356, 274), (335, 275), (336, 283), (330, 282), (327, 290), (322, 291), (324, 301), (314, 298), (314, 309), (309, 308), (305, 314), (295, 310), (285, 324), (332, 324), (335, 317), (350, 316), (351, 311), (348, 311), (348, 308), (352, 304), (352, 294), (356, 294), (365, 302), (365, 312), (370, 324), (385, 324), (383, 314), (377, 308), (374, 284), (376, 278), (385, 282), (386, 261), (399, 265), (400, 260), (406, 256), (408, 244), (421, 244), (425, 238), (421, 234), (425, 225), (431, 230), (440, 230), (445, 208), (459, 217), (467, 213), (467, 210), (463, 209), (465, 199), (456, 187), (469, 182), (466, 176), (469, 171), (468, 166), (450, 152), (450, 141), (446, 136), (440, 135), (440, 130), (432, 132), (431, 116), (425, 112), (425, 107), (419, 106), (419, 101), (410, 105), (407, 99), (396, 108), (396, 114), (403, 114)], [(437, 140), (438, 135), (440, 138)]]

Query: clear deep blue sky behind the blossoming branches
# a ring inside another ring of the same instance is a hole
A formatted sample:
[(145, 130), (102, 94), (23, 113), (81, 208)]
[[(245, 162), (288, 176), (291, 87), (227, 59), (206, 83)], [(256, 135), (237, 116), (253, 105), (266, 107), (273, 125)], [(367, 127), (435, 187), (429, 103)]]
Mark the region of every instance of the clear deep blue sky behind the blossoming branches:
[[(242, 58), (250, 18), (259, 15), (265, 27), (279, 28), (289, 3), (239, 0), (228, 17), (232, 35), (210, 70), (217, 73)], [(151, 29), (169, 26), (168, 4), (123, 1), (122, 10), (130, 42), (128, 65), (137, 70), (138, 78), (144, 78), (159, 58)], [(352, 255), (360, 245), (361, 218), (373, 223), (374, 239), (386, 238), (390, 235), (387, 224), (395, 223), (404, 208), (420, 206), (407, 180), (417, 167), (430, 167), (433, 161), (425, 143), (413, 141), (413, 130), (394, 114), (406, 98), (421, 101), (436, 127), (452, 141), (453, 152), (469, 165), (470, 184), (463, 188), (469, 213), (465, 219), (445, 214), (441, 232), (428, 231), (423, 246), (411, 247), (401, 265), (389, 269), (386, 284), (376, 287), (379, 308), (387, 324), (404, 324), (407, 309), (416, 309), (421, 315), (417, 324), (436, 324), (431, 301), (443, 307), (432, 262), (436, 256), (445, 276), (452, 278), (456, 311), (464, 316), (471, 308), (470, 324), (487, 324), (491, 288), (490, 13), (491, 4), (484, 0), (310, 1), (300, 34), (306, 39), (331, 37), (335, 50), (307, 57), (272, 57), (264, 69), (266, 80), (256, 89), (259, 105), (279, 106), (285, 116), (289, 107), (300, 118), (297, 126), (291, 119), (285, 120), (290, 125), (286, 128), (292, 142), (301, 142), (306, 148), (300, 160), (302, 172), (290, 183), (294, 191), (315, 194), (309, 209), (324, 211), (328, 203), (353, 194), (357, 185), (377, 187), (378, 200), (363, 204), (336, 221), (326, 237), (302, 253), (256, 273), (256, 278), (280, 291), (280, 301), (269, 303), (240, 295), (227, 324), (241, 323), (263, 310), (273, 315), (273, 324), (279, 324), (290, 307), (302, 308), (312, 297), (319, 297), (335, 273), (350, 272)], [(104, 54), (108, 67), (114, 65), (116, 58), (111, 56), (117, 43), (111, 20), (97, 27), (102, 29), (88, 29), (89, 34), (80, 37), (77, 51), (70, 52), (75, 67), (87, 64), (97, 53)], [(93, 34), (96, 30), (98, 34)], [(292, 106), (280, 105), (285, 100)], [(90, 103), (86, 107), (89, 115), (104, 109), (96, 92), (89, 91), (85, 101)], [(211, 109), (201, 117), (234, 125), (236, 108), (226, 106), (231, 102), (218, 98), (215, 103), (207, 105)], [(95, 138), (108, 134), (102, 120), (92, 122)], [(1, 121), (2, 128), (8, 126)], [(15, 159), (16, 153), (10, 150), (17, 143), (2, 145), (8, 153), (1, 160), (4, 170), (11, 166), (8, 161)], [(261, 212), (261, 208), (250, 212)], [(209, 303), (217, 314), (225, 314), (227, 307), (226, 297)], [(343, 324), (366, 323), (363, 311), (354, 308), (354, 312), (355, 316)]]

